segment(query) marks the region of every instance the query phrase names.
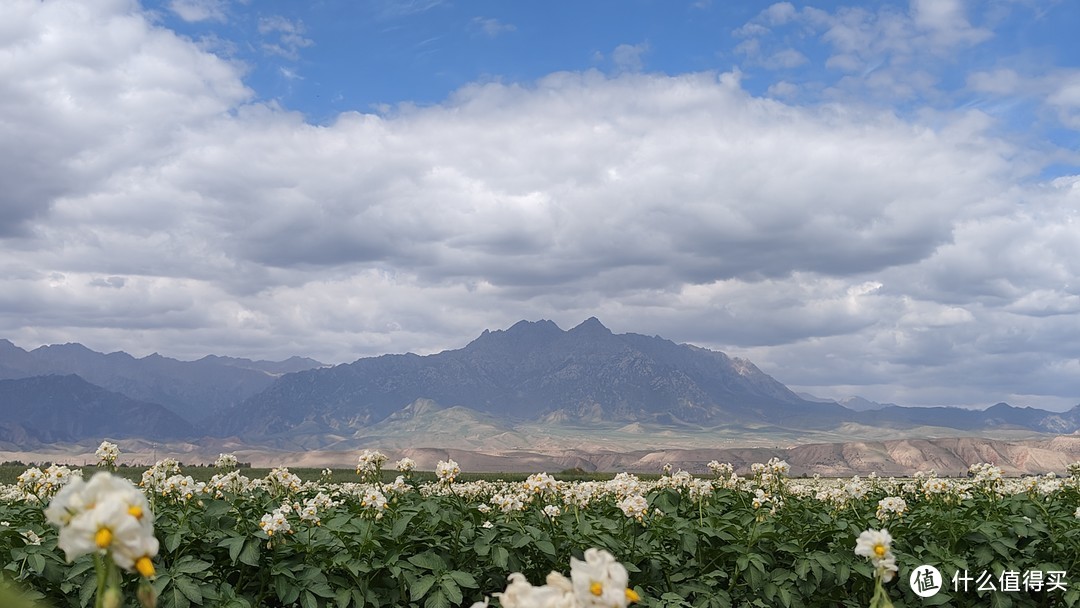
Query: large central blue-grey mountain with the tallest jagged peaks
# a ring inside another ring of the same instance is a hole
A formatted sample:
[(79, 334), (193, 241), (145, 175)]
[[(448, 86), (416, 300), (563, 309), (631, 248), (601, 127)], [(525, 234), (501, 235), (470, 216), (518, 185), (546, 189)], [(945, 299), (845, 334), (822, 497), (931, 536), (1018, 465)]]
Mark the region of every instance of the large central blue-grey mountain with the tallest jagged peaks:
[(356, 432), (417, 400), (507, 421), (829, 424), (836, 404), (799, 398), (748, 361), (659, 337), (615, 335), (596, 319), (485, 330), (462, 349), (383, 355), (282, 377), (215, 429), (265, 436)]

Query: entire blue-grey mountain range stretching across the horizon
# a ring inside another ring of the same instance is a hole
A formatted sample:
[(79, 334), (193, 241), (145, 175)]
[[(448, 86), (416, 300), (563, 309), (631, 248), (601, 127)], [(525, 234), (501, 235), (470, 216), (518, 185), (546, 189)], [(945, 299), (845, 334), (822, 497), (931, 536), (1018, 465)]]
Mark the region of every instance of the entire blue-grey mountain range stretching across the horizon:
[(9, 444), (122, 432), (319, 448), (408, 433), (422, 438), (448, 428), (481, 433), (481, 444), (526, 428), (534, 437), (567, 429), (672, 436), (852, 425), (913, 433), (1080, 430), (1080, 406), (1052, 413), (1004, 403), (971, 410), (816, 400), (746, 360), (658, 336), (613, 334), (596, 319), (569, 330), (522, 321), (456, 350), (335, 366), (299, 357), (135, 359), (73, 343), (25, 351), (0, 340), (0, 380), (6, 421), (0, 442)]

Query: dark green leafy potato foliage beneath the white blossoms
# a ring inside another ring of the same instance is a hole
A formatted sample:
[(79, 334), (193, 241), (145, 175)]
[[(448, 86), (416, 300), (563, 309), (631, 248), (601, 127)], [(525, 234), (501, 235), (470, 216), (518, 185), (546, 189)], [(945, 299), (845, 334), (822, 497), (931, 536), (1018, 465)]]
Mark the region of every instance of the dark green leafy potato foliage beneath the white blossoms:
[[(865, 497), (843, 501), (820, 500), (812, 482), (805, 483), (810, 489), (793, 491), (795, 484), (770, 486), (773, 502), (766, 505), (754, 504), (754, 488), (746, 484), (717, 483), (704, 492), (700, 486), (649, 486), (649, 512), (642, 521), (623, 513), (613, 491), (597, 492), (584, 508), (537, 494), (526, 497), (523, 510), (501, 512), (491, 497), (509, 486), (494, 483), (448, 491), (383, 488), (390, 501), (381, 512), (363, 505), (366, 486), (354, 485), (306, 486), (288, 496), (267, 487), (189, 501), (158, 496), (161, 550), (153, 586), (163, 608), (469, 606), (504, 589), (511, 572), (542, 581), (552, 570), (568, 571), (571, 556), (599, 548), (626, 566), (645, 606), (853, 607), (866, 606), (875, 590), (870, 565), (853, 553), (855, 538), (887, 527), (900, 573), (886, 592), (897, 608), (1080, 605), (1075, 482), (1048, 495), (924, 496), (917, 485), (905, 490), (901, 484), (872, 484)], [(339, 501), (320, 510), (319, 525), (293, 512), (289, 533), (259, 528), (264, 514), (283, 503), (302, 504), (319, 491)], [(879, 519), (878, 500), (896, 492), (907, 498), (907, 511)], [(485, 512), (482, 503), (491, 509)], [(559, 505), (561, 513), (545, 514), (548, 504)], [(40, 504), (0, 501), (0, 521), (10, 523), (0, 527), (4, 578), (55, 608), (90, 605), (91, 560), (65, 563)], [(41, 543), (27, 543), (27, 530)], [(1068, 572), (1069, 586), (954, 593), (947, 584), (922, 599), (907, 585), (921, 564), (937, 566), (946, 579), (957, 569), (1061, 570)], [(125, 596), (133, 597), (134, 589)]]

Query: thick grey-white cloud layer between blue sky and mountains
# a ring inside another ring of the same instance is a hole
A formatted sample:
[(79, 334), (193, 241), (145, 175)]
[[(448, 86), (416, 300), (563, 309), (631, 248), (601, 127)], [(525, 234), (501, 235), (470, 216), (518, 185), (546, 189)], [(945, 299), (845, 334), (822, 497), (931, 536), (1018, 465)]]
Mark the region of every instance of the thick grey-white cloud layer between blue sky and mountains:
[[(922, 50), (989, 36), (955, 9), (781, 3), (742, 36), (816, 24), (829, 60), (858, 71), (916, 52), (879, 48), (890, 19)], [(135, 2), (9, 12), (0, 334), (19, 346), (345, 362), (597, 315), (826, 396), (1080, 402), (1080, 178), (1039, 178), (980, 109), (785, 102), (739, 69), (643, 71), (647, 46), (627, 44), (633, 70), (477, 83), (313, 125)], [(289, 53), (311, 42), (266, 23)], [(764, 48), (743, 54), (801, 63)], [(1016, 78), (971, 82), (1005, 94)], [(1063, 120), (1080, 107), (1070, 91), (1048, 97)]]

